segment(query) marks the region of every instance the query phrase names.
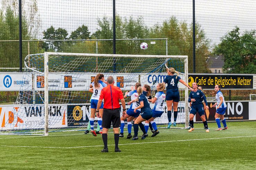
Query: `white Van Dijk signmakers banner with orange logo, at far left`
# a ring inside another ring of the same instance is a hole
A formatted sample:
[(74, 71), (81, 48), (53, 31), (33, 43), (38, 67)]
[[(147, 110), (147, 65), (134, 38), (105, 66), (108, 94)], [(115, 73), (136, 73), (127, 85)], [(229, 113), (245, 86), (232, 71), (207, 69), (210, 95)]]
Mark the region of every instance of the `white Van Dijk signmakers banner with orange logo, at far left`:
[[(67, 127), (67, 106), (49, 105), (49, 128)], [(44, 128), (44, 105), (0, 106), (3, 130)]]

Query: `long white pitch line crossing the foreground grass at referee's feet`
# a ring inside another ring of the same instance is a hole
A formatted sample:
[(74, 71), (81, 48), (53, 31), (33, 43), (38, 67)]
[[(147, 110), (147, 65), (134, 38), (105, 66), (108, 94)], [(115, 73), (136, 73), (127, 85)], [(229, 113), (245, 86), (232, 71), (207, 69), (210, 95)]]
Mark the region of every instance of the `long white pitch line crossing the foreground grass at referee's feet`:
[[(183, 142), (183, 141), (200, 141), (200, 140), (215, 140), (215, 139), (227, 139), (227, 138), (239, 138), (239, 137), (256, 137), (253, 136), (233, 136), (233, 137), (217, 137), (217, 138), (205, 138), (205, 139), (188, 139), (188, 140), (177, 140), (177, 141), (158, 141), (158, 142), (141, 142), (141, 143), (126, 143), (119, 145), (136, 145), (136, 144), (148, 144), (148, 143), (167, 143), (167, 142)], [(31, 148), (61, 148), (61, 149), (74, 149), (83, 147), (103, 147), (104, 145), (91, 145), (91, 146), (74, 146), (74, 147), (52, 147), (52, 146), (13, 146), (13, 145), (0, 145), (0, 147), (31, 147)], [(108, 145), (114, 146), (114, 145)]]

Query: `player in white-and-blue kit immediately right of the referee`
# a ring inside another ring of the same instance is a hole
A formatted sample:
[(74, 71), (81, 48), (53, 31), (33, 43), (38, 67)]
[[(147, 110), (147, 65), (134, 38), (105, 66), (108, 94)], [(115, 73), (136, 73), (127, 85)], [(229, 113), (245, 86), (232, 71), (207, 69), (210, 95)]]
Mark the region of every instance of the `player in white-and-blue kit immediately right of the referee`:
[(136, 113), (134, 113), (134, 109), (139, 106), (139, 102), (135, 101), (138, 98), (138, 93), (137, 93), (137, 88), (138, 87), (141, 87), (141, 84), (137, 82), (135, 84), (135, 90), (133, 90), (133, 88), (132, 88), (132, 90), (130, 92), (126, 92), (125, 96), (123, 96), (123, 98), (131, 97), (131, 100), (133, 102), (128, 102), (131, 106), (127, 110), (126, 115), (121, 117), (121, 126), (120, 126), (119, 137), (123, 137), (123, 128), (125, 127), (125, 119), (127, 119), (127, 126), (128, 126), (127, 139), (133, 137), (131, 135), (131, 120), (133, 120), (134, 118), (138, 117), (139, 114), (140, 114), (140, 109), (138, 109), (136, 111)]

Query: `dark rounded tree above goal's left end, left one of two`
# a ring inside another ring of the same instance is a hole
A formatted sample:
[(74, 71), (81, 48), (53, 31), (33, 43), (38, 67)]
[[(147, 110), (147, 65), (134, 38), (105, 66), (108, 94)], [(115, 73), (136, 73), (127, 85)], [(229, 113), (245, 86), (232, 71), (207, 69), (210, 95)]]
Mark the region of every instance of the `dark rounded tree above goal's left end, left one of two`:
[[(66, 29), (63, 28), (58, 28), (55, 29), (53, 26), (50, 28), (46, 29), (46, 31), (43, 31), (43, 39), (47, 40), (62, 40), (62, 39), (67, 39), (68, 32)], [(63, 42), (61, 41), (47, 41), (43, 43), (43, 48), (45, 51), (48, 50), (54, 50), (54, 51), (61, 51), (61, 45)]]

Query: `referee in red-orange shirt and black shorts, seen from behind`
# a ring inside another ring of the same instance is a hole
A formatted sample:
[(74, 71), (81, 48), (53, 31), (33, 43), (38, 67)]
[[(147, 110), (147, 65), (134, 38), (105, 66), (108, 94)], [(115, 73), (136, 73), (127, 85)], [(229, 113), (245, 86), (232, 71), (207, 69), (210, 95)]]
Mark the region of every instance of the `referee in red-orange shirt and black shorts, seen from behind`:
[(115, 152), (121, 152), (118, 148), (119, 142), (119, 127), (120, 121), (120, 105), (119, 99), (121, 100), (123, 107), (123, 116), (126, 114), (125, 99), (123, 93), (119, 87), (114, 86), (114, 78), (109, 76), (107, 79), (108, 86), (101, 90), (100, 99), (97, 104), (96, 114), (99, 115), (99, 109), (104, 99), (103, 115), (102, 115), (102, 140), (104, 143), (104, 149), (101, 152), (109, 152), (108, 149), (108, 130), (113, 124), (114, 139), (115, 139)]

